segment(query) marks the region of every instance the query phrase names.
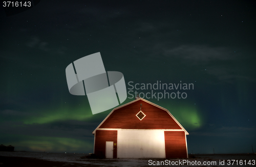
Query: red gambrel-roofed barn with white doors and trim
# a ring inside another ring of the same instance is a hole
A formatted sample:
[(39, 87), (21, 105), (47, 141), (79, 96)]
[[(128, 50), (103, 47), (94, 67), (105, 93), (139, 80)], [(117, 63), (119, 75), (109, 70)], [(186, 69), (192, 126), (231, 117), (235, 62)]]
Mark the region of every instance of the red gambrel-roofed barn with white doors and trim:
[(170, 112), (143, 98), (114, 108), (93, 131), (105, 158), (188, 158), (188, 132)]

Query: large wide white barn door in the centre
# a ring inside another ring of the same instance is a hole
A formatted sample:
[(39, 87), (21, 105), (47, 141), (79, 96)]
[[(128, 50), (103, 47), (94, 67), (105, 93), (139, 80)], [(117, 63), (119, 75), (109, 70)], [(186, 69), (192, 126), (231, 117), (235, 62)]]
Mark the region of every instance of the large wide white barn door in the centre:
[(118, 130), (117, 158), (165, 158), (163, 130)]

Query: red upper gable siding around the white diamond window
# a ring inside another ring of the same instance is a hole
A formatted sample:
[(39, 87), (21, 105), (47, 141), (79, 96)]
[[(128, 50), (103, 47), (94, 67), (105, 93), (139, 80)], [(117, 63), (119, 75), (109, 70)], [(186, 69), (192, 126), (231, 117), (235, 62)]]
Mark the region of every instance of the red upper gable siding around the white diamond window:
[[(142, 112), (146, 115), (142, 121), (136, 117), (136, 114), (140, 111), (140, 104), (142, 104)], [(138, 100), (114, 110), (99, 128), (181, 129), (166, 110), (158, 108), (143, 100)]]

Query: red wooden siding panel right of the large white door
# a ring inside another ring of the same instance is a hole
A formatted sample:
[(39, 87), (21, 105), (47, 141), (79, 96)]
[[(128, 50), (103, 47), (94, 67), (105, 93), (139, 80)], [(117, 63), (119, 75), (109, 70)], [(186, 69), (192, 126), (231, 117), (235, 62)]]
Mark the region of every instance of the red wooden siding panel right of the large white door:
[(184, 131), (164, 131), (166, 158), (187, 158)]

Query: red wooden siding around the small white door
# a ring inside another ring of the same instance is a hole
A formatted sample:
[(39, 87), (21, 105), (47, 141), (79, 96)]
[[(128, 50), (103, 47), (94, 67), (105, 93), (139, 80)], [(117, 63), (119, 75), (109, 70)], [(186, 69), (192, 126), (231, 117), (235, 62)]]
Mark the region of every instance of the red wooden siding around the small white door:
[(114, 142), (113, 158), (117, 158), (117, 130), (96, 130), (94, 154), (105, 158), (106, 142)]

